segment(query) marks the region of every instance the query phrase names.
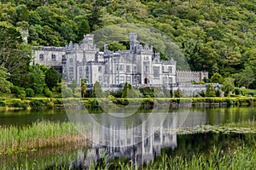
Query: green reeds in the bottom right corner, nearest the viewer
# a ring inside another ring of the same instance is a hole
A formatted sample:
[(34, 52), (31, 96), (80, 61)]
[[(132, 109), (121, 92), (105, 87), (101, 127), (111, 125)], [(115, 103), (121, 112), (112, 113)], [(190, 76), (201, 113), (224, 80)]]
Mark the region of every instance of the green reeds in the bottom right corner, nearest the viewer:
[(168, 156), (163, 154), (159, 161), (153, 161), (148, 166), (137, 167), (131, 163), (93, 165), (89, 169), (253, 169), (256, 160), (255, 147), (242, 144), (237, 148), (228, 150), (218, 149), (212, 146), (207, 153), (197, 153), (189, 156)]

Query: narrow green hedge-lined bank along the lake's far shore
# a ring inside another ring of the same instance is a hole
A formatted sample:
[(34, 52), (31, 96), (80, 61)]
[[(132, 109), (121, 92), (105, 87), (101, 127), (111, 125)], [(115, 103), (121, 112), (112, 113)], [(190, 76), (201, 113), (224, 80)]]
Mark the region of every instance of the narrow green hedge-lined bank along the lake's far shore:
[[(79, 103), (78, 103), (79, 102)], [(255, 105), (256, 97), (207, 97), (207, 98), (27, 98), (27, 99), (0, 99), (0, 108), (9, 109), (37, 109), (37, 108), (58, 108), (84, 105), (86, 108), (96, 108), (104, 105), (140, 105), (141, 108), (153, 108), (154, 106), (166, 105), (170, 108), (191, 107), (191, 106), (230, 106), (230, 105)]]

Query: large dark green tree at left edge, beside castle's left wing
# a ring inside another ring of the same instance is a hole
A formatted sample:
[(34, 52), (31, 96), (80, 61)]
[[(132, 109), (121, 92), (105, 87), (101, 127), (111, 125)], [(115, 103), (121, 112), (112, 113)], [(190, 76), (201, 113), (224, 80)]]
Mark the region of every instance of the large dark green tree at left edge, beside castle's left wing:
[(13, 27), (0, 26), (0, 66), (5, 67), (11, 77), (19, 77), (15, 74), (29, 65), (31, 54), (32, 47), (23, 42), (19, 31)]

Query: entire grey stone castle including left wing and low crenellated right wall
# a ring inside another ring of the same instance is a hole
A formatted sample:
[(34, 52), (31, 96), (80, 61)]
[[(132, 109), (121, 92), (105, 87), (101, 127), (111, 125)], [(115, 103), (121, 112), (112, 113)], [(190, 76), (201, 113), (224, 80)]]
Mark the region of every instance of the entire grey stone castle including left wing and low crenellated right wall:
[(84, 35), (78, 44), (66, 47), (42, 47), (34, 51), (34, 63), (53, 66), (66, 82), (86, 78), (103, 86), (129, 82), (132, 85), (169, 86), (176, 82), (199, 82), (208, 77), (206, 71), (177, 71), (176, 61), (161, 60), (153, 47), (137, 41), (137, 33), (130, 33), (130, 49), (112, 52), (108, 45), (101, 52), (94, 44), (93, 35)]

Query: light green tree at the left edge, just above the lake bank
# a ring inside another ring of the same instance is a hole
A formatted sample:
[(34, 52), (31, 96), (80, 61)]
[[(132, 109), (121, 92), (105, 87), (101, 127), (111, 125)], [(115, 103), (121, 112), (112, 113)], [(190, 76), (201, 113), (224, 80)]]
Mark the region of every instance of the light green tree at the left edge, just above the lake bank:
[(9, 77), (9, 74), (6, 73), (6, 69), (0, 66), (0, 94), (10, 93), (12, 83), (6, 80), (7, 77)]

